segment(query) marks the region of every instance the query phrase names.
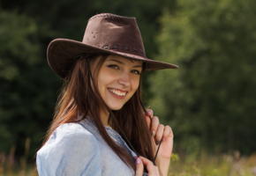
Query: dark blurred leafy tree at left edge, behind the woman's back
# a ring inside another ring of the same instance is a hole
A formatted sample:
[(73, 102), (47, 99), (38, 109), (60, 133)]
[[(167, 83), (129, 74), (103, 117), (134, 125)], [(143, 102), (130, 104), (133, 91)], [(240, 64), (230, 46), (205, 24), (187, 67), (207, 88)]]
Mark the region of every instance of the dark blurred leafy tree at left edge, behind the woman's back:
[(38, 31), (32, 18), (0, 12), (1, 151), (15, 146), (17, 153), (23, 153), (26, 137), (35, 150), (53, 111), (57, 84), (49, 79), (52, 73), (41, 60)]

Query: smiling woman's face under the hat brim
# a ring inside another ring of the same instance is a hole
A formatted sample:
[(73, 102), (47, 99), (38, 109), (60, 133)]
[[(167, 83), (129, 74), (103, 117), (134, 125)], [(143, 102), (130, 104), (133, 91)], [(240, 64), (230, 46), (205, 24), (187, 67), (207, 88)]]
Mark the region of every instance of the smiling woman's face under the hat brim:
[[(101, 58), (92, 63), (92, 73)], [(96, 78), (102, 99), (111, 110), (119, 110), (139, 87), (142, 62), (109, 55)]]

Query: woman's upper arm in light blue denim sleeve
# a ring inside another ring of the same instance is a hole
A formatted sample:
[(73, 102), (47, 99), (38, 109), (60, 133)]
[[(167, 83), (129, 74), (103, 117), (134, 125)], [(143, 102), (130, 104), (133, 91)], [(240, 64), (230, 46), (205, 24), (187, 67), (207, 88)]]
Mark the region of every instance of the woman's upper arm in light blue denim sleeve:
[(100, 149), (93, 134), (79, 124), (64, 124), (56, 129), (41, 150), (36, 165), (39, 176), (100, 176)]

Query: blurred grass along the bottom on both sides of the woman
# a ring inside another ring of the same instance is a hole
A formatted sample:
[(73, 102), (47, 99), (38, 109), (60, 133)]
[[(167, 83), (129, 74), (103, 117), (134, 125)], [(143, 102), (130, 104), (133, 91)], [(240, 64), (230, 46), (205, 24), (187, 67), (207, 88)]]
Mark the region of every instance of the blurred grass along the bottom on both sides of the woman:
[[(9, 155), (0, 153), (0, 176), (35, 175), (35, 165), (28, 165), (26, 157), (17, 161), (13, 151)], [(256, 176), (256, 154), (246, 158), (240, 157), (238, 152), (219, 156), (201, 154), (200, 157), (173, 154), (169, 176)]]

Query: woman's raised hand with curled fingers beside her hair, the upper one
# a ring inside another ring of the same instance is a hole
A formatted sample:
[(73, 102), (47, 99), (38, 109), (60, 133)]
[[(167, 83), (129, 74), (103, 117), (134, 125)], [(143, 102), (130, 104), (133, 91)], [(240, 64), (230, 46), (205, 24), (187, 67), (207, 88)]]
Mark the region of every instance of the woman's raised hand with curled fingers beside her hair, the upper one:
[(154, 116), (152, 109), (147, 109), (145, 114), (147, 126), (152, 133), (152, 143), (154, 149), (154, 155), (159, 143), (162, 141), (161, 146), (158, 150), (158, 154), (155, 160), (155, 164), (159, 166), (162, 175), (168, 173), (169, 160), (173, 149), (173, 132), (172, 129), (167, 125), (164, 126), (159, 122), (157, 116)]

